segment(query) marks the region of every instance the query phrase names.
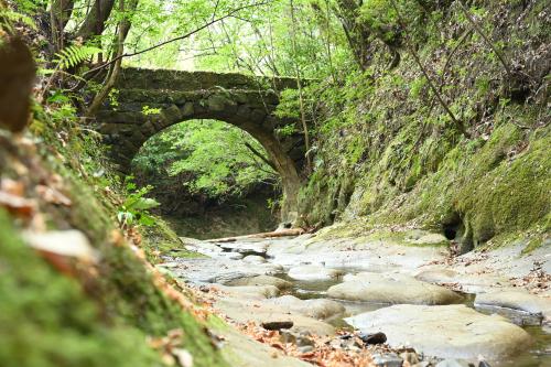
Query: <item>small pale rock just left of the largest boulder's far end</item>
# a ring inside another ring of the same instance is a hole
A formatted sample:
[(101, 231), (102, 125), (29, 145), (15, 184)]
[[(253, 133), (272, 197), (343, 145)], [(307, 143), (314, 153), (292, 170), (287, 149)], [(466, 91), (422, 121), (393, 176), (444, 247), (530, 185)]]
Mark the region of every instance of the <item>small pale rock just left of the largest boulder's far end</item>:
[(345, 307), (335, 301), (325, 299), (300, 300), (294, 295), (282, 295), (268, 302), (314, 319), (329, 319), (345, 312)]

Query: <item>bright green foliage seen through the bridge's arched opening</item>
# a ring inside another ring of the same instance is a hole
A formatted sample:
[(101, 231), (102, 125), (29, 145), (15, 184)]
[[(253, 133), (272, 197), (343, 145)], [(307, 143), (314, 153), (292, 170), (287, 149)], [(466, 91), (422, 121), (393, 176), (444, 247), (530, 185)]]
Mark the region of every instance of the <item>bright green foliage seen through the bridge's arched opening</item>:
[(186, 121), (150, 139), (134, 159), (138, 172), (183, 177), (192, 194), (224, 201), (258, 184), (277, 182), (276, 172), (252, 151), (262, 145), (220, 121)]

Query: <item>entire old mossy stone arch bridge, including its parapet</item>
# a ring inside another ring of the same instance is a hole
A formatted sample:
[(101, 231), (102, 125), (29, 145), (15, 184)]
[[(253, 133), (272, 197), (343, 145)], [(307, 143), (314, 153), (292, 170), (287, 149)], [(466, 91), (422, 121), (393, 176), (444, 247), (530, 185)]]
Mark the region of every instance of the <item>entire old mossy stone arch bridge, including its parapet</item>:
[(288, 220), (296, 212), (304, 141), (301, 133), (281, 137), (278, 128), (296, 121), (273, 112), (279, 93), (295, 87), (292, 78), (123, 68), (115, 86), (116, 102), (106, 102), (96, 120), (123, 173), (130, 171), (133, 156), (149, 138), (175, 123), (215, 119), (247, 131), (262, 144), (281, 176), (282, 218)]

